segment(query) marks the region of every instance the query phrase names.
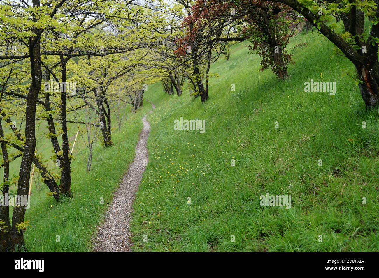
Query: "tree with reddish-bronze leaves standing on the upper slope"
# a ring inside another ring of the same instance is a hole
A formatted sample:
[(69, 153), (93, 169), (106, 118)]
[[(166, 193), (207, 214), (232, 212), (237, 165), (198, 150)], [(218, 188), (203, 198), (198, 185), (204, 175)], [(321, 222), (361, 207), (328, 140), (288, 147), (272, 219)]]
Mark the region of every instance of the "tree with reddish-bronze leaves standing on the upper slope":
[[(262, 58), (262, 71), (270, 67), (278, 78), (285, 79), (288, 76), (287, 67), (292, 60), (286, 47), (290, 38), (295, 34), (294, 30), (302, 21), (297, 12), (281, 3), (265, 3), (254, 0), (241, 1), (240, 5), (230, 3), (228, 0), (203, 2), (202, 0), (196, 2), (193, 10), (199, 9), (194, 12), (194, 14), (200, 14), (197, 21), (204, 21), (212, 26), (208, 31), (208, 37), (213, 35), (217, 38), (215, 41), (225, 41), (226, 45), (232, 40), (249, 39), (252, 42), (252, 45), (248, 46), (251, 52), (257, 51)], [(221, 38), (222, 29), (214, 27), (223, 27), (218, 24), (219, 22), (228, 22), (229, 26), (232, 26), (227, 29), (228, 35), (229, 31), (232, 31), (240, 34), (240, 37), (228, 38), (224, 35), (226, 38)], [(196, 24), (198, 23), (196, 22)], [(194, 31), (198, 32), (199, 29), (196, 31), (194, 28)], [(226, 54), (226, 45), (219, 51)], [(226, 57), (229, 59), (228, 55)]]

